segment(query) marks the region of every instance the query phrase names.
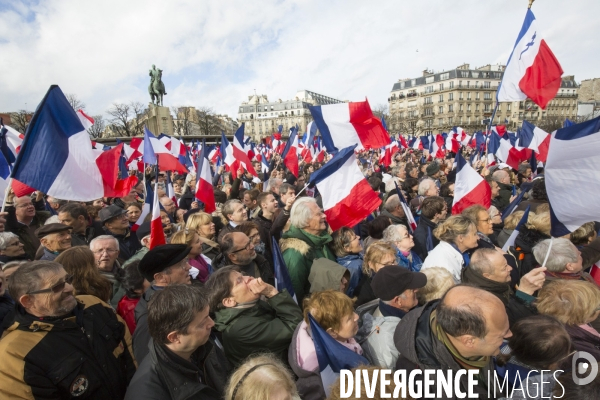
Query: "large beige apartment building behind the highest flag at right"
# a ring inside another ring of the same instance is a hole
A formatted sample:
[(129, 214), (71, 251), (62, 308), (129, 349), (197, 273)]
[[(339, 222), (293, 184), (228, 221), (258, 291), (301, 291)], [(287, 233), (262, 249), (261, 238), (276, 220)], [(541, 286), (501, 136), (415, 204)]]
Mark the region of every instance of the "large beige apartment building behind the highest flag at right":
[[(448, 132), (460, 126), (468, 132), (485, 128), (491, 118), (504, 65), (471, 69), (463, 64), (442, 72), (423, 71), (423, 76), (396, 82), (388, 99), (391, 134), (425, 135)], [(577, 89), (574, 76), (563, 77), (561, 88), (546, 110), (531, 100), (500, 103), (494, 124), (516, 130), (524, 119), (541, 124), (552, 118), (575, 118)]]

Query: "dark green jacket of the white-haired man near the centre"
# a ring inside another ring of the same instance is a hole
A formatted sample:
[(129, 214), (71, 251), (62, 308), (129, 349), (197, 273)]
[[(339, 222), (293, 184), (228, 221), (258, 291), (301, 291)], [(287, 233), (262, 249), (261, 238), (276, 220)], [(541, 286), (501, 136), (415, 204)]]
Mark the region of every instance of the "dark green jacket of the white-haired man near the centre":
[(335, 261), (335, 255), (327, 245), (331, 240), (331, 235), (327, 232), (315, 236), (293, 225), (283, 234), (280, 241), (281, 253), (290, 273), (298, 304), (302, 304), (302, 299), (310, 292), (308, 276), (313, 260), (327, 258)]

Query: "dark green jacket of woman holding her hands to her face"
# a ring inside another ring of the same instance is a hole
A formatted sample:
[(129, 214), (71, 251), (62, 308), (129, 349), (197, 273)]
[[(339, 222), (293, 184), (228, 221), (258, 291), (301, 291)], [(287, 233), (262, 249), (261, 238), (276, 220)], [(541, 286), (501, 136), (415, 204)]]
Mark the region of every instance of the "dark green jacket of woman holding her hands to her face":
[(215, 314), (215, 329), (222, 333), (225, 355), (234, 366), (264, 352), (287, 362), (294, 330), (302, 321), (300, 307), (286, 291), (249, 308), (225, 308)]

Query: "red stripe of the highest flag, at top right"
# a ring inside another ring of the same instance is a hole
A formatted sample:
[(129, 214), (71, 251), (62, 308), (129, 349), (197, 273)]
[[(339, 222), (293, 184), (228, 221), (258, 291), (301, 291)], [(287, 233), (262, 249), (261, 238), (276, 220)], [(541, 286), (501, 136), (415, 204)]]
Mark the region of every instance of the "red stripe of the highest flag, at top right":
[(540, 42), (540, 49), (531, 67), (525, 71), (525, 76), (519, 81), (519, 88), (542, 110), (556, 96), (560, 88), (562, 67), (546, 44)]

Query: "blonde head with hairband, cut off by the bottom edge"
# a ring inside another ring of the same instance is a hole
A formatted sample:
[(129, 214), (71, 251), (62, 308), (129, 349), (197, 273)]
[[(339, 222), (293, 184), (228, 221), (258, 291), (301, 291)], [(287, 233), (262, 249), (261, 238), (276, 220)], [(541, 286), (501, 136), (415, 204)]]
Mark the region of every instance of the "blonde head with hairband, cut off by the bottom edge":
[(231, 375), (225, 400), (300, 400), (300, 396), (288, 368), (272, 354), (259, 354)]

